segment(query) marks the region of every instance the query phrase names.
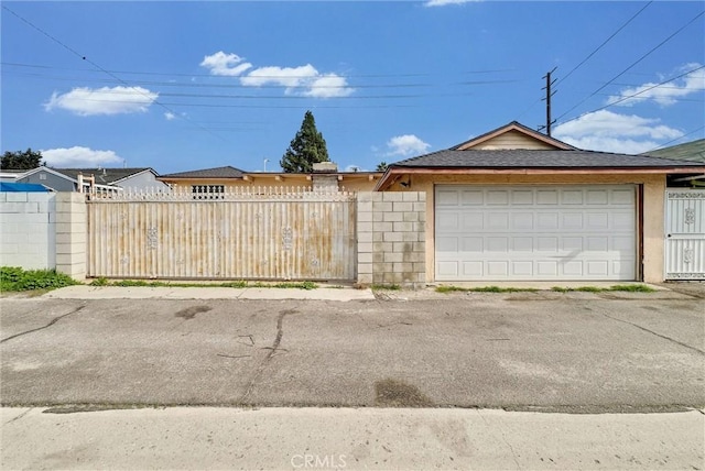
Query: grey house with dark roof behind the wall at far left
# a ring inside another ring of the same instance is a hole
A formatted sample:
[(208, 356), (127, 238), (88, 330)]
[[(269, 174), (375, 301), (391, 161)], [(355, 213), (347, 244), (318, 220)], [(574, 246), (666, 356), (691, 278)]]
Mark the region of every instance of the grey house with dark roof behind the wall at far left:
[[(82, 178), (79, 178), (82, 175)], [(34, 183), (44, 185), (56, 191), (79, 191), (79, 179), (84, 186), (89, 186), (90, 178), (95, 178), (98, 191), (120, 191), (121, 189), (158, 189), (169, 187), (156, 177), (159, 174), (152, 168), (51, 168), (40, 166), (28, 171), (18, 183)]]

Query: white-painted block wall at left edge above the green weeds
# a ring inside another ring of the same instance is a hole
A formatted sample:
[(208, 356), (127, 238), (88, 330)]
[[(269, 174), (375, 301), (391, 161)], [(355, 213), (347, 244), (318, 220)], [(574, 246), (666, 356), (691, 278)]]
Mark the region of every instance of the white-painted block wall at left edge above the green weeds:
[(55, 193), (0, 191), (0, 265), (54, 269), (55, 216)]

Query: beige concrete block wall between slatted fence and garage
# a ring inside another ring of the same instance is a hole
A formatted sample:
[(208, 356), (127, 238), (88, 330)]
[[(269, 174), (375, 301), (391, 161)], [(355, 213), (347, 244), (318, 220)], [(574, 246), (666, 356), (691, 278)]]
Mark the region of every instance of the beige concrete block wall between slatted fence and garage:
[(423, 286), (425, 191), (361, 191), (357, 201), (358, 283)]

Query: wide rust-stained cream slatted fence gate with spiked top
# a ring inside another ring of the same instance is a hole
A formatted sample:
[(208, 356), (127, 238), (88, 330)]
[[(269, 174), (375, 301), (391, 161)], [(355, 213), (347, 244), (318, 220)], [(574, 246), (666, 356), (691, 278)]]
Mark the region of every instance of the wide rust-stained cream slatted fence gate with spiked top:
[(88, 276), (356, 278), (356, 200), (300, 188), (88, 199)]

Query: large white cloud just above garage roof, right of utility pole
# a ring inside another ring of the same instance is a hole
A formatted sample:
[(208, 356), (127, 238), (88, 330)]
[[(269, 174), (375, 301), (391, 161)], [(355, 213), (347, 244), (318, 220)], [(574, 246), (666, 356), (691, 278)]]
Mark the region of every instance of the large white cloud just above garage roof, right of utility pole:
[(659, 140), (683, 135), (677, 129), (660, 122), (659, 119), (600, 110), (557, 125), (553, 136), (578, 149), (638, 154), (657, 147)]

